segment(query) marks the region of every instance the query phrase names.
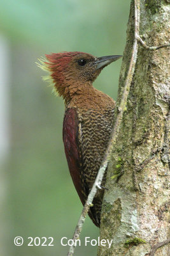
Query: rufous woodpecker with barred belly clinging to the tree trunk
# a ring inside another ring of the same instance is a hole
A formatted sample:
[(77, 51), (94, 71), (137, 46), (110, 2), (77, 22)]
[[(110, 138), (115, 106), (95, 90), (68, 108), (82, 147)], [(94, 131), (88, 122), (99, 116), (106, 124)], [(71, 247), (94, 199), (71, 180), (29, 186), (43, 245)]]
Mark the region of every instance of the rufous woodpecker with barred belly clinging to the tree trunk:
[[(115, 100), (94, 88), (92, 83), (104, 67), (122, 55), (95, 57), (85, 52), (45, 54), (39, 67), (48, 72), (44, 80), (64, 99), (65, 113), (62, 138), (69, 172), (74, 187), (85, 205), (90, 189), (108, 147)], [(101, 207), (106, 172), (89, 209), (89, 216), (97, 227), (101, 223)]]

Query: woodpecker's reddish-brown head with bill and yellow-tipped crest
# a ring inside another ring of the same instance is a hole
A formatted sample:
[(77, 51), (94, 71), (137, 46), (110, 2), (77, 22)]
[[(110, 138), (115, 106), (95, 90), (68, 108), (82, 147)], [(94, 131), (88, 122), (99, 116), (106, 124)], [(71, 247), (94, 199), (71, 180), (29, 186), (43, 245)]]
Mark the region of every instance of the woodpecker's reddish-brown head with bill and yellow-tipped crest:
[(43, 77), (50, 81), (54, 90), (64, 99), (83, 90), (83, 86), (90, 86), (99, 76), (101, 70), (122, 55), (94, 57), (84, 52), (59, 52), (46, 54), (38, 64), (40, 68), (49, 72)]

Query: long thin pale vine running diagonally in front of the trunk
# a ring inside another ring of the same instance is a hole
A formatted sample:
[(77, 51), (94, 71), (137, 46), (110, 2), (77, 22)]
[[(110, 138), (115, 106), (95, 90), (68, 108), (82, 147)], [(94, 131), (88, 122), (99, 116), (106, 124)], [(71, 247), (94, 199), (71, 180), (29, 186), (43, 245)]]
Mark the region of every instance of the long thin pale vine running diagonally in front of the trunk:
[[(137, 4), (136, 4), (137, 1), (139, 1), (139, 0), (134, 0), (134, 3), (135, 3), (135, 15), (134, 15), (135, 16), (135, 20), (134, 20), (135, 35), (136, 35), (136, 33), (138, 33), (138, 30), (139, 30), (139, 14), (138, 14), (139, 13), (139, 4), (137, 7)], [(137, 52), (138, 52), (138, 40), (135, 35), (134, 35), (134, 43), (132, 45), (131, 61), (130, 61), (127, 77), (125, 80), (124, 91), (122, 93), (122, 99), (120, 101), (120, 105), (118, 106), (118, 113), (117, 113), (115, 123), (113, 125), (113, 129), (111, 131), (111, 137), (110, 137), (110, 141), (108, 143), (108, 148), (107, 148), (106, 154), (103, 158), (101, 167), (99, 168), (99, 172), (97, 174), (94, 185), (92, 186), (92, 189), (89, 193), (87, 201), (83, 207), (83, 211), (81, 212), (81, 216), (80, 216), (80, 219), (78, 220), (78, 224), (76, 225), (76, 229), (73, 234), (74, 244), (73, 244), (73, 246), (70, 246), (67, 256), (72, 256), (74, 253), (74, 248), (76, 247), (75, 241), (80, 236), (80, 233), (81, 233), (81, 230), (83, 227), (83, 223), (85, 221), (85, 217), (87, 215), (87, 212), (89, 211), (90, 205), (92, 205), (92, 201), (94, 199), (94, 196), (96, 195), (97, 188), (101, 188), (101, 182), (103, 180), (103, 175), (104, 175), (104, 172), (106, 171), (106, 167), (108, 166), (108, 161), (110, 159), (111, 150), (112, 150), (113, 144), (117, 140), (118, 132), (120, 129), (120, 124), (122, 122), (122, 117), (124, 115), (124, 109), (125, 109), (125, 106), (127, 103), (127, 97), (129, 95), (129, 89), (131, 87), (132, 76), (134, 74), (134, 68), (136, 65)]]

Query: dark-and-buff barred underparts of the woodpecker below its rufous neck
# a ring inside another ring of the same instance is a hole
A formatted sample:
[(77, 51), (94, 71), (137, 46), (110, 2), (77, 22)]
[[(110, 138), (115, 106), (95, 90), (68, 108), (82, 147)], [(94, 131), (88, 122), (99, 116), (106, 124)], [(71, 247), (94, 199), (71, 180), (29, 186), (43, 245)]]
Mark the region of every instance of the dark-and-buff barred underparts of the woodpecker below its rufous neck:
[(96, 109), (77, 111), (81, 123), (81, 154), (83, 173), (93, 183), (110, 140), (114, 109), (102, 113)]

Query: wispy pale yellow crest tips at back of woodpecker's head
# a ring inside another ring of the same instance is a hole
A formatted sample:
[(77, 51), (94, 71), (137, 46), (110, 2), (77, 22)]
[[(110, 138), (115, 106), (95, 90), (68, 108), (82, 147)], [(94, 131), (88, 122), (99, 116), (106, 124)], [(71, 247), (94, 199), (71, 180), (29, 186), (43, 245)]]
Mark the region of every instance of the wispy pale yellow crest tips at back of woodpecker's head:
[(53, 79), (51, 77), (51, 71), (48, 68), (48, 65), (45, 63), (48, 60), (46, 60), (46, 58), (41, 57), (38, 58), (39, 62), (36, 62), (36, 65), (41, 68), (43, 71), (48, 72), (47, 76), (41, 76), (42, 80), (48, 83), (48, 87), (52, 87), (52, 93), (55, 94), (55, 96), (59, 96), (59, 93), (57, 92), (56, 88), (55, 88), (55, 83), (53, 82)]

